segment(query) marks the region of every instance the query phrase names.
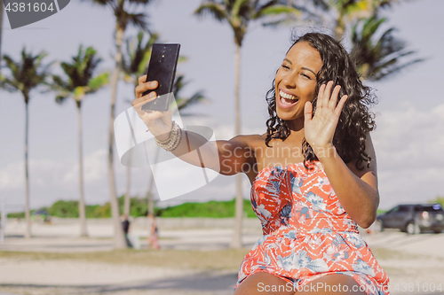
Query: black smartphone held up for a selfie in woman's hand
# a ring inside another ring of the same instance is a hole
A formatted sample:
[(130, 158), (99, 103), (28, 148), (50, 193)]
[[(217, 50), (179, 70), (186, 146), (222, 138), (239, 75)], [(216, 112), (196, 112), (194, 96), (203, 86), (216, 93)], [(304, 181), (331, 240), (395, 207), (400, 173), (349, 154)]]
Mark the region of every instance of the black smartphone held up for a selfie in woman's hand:
[(176, 76), (176, 66), (178, 65), (178, 50), (180, 44), (153, 44), (151, 58), (147, 68), (147, 82), (157, 81), (158, 87), (153, 90), (147, 90), (143, 93), (155, 91), (157, 97), (155, 100), (142, 106), (145, 111), (168, 111), (172, 99), (171, 92)]

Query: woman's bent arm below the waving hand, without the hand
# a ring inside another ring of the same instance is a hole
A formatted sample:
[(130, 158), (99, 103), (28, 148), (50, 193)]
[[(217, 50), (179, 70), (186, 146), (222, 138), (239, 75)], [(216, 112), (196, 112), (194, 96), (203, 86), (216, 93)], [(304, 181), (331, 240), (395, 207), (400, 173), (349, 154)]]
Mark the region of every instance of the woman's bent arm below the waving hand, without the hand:
[(377, 159), (371, 138), (367, 135), (365, 152), (371, 158), (370, 167), (356, 168), (356, 160), (345, 164), (334, 147), (329, 152), (318, 149), (314, 153), (321, 161), (331, 187), (346, 213), (362, 228), (367, 229), (377, 218), (379, 193), (377, 190)]

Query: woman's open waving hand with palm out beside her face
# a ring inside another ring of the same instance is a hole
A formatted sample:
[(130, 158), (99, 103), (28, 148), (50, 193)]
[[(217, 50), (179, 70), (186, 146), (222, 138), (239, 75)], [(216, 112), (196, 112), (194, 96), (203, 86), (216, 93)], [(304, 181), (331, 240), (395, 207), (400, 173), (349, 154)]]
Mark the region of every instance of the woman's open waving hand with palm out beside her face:
[[(319, 89), (316, 112), (312, 118), (313, 105), (306, 102), (304, 106), (304, 133), (305, 140), (312, 146), (314, 153), (328, 151), (333, 146), (333, 136), (337, 127), (337, 121), (348, 96), (343, 96), (337, 104), (337, 97), (341, 86), (337, 85), (333, 92), (333, 82), (322, 84)], [(330, 95), (331, 93), (331, 95)], [(318, 151), (318, 152), (317, 152)]]

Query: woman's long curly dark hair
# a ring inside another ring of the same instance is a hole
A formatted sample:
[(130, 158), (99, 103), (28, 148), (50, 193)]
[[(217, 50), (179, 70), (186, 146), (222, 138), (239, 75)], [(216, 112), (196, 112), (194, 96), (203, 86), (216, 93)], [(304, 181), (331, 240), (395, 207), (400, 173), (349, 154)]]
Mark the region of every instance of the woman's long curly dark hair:
[[(362, 85), (360, 75), (356, 71), (352, 59), (344, 47), (335, 39), (325, 34), (308, 33), (297, 38), (293, 45), (300, 42), (309, 43), (315, 50), (318, 50), (322, 59), (321, 70), (316, 75), (317, 85), (315, 98), (312, 102), (313, 114), (316, 111), (317, 95), (321, 85), (327, 84), (329, 81), (333, 81), (335, 85), (340, 85), (339, 97), (346, 94), (348, 98), (339, 116), (333, 144), (345, 163), (358, 159), (356, 161), (358, 169), (363, 169), (361, 167), (363, 162), (367, 162), (369, 167), (371, 159), (365, 152), (365, 140), (366, 134), (376, 127), (375, 114), (369, 112), (369, 106), (377, 103), (376, 97), (373, 96), (369, 87)], [(276, 113), (274, 82), (273, 88), (266, 93), (266, 102), (270, 115), (270, 118), (266, 120), (266, 146), (270, 147), (268, 144), (273, 138), (285, 140), (290, 133), (287, 122), (281, 120)], [(305, 138), (302, 142), (302, 151), (305, 167), (307, 167), (307, 162), (317, 159)]]

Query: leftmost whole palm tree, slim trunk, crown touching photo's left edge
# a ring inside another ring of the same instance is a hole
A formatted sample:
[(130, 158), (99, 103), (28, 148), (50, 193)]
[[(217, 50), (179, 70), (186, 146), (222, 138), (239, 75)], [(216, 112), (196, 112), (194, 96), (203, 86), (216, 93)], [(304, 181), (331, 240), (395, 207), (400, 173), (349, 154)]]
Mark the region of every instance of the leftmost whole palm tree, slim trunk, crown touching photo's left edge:
[(31, 237), (31, 216), (29, 212), (29, 169), (28, 169), (28, 130), (29, 130), (29, 110), (28, 103), (30, 99), (30, 92), (41, 85), (47, 85), (45, 81), (48, 76), (48, 68), (51, 64), (44, 65), (43, 59), (46, 57), (44, 51), (36, 56), (31, 52), (27, 52), (24, 47), (21, 50), (21, 60), (15, 62), (10, 56), (4, 55), (5, 67), (9, 68), (11, 76), (4, 77), (0, 75), (0, 87), (10, 92), (20, 91), (25, 99), (25, 218), (27, 227), (25, 237)]

